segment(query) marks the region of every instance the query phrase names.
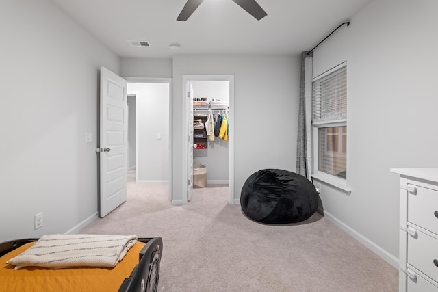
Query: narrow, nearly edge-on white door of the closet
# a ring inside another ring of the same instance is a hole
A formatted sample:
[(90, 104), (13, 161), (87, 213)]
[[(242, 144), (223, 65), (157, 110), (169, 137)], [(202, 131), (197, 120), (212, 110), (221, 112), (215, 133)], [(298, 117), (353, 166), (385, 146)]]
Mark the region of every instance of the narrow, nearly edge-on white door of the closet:
[(188, 122), (187, 122), (187, 140), (188, 140), (188, 151), (187, 151), (187, 165), (188, 165), (188, 185), (187, 185), (187, 200), (192, 199), (193, 193), (193, 86), (190, 81), (187, 82), (187, 109), (188, 109)]

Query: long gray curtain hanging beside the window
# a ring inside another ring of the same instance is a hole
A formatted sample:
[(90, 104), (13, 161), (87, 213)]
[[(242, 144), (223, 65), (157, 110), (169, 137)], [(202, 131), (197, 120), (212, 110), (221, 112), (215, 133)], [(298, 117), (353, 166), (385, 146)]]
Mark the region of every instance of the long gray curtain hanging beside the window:
[(311, 181), (311, 88), (313, 53), (301, 53), (300, 109), (298, 112), (298, 137), (296, 146), (296, 173)]

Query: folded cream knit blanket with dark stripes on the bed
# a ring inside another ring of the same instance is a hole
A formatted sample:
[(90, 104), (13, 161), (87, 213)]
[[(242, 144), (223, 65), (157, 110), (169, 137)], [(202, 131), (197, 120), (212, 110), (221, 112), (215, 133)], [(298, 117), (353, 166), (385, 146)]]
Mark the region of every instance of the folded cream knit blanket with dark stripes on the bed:
[(136, 242), (136, 235), (44, 235), (7, 263), (15, 269), (114, 267)]

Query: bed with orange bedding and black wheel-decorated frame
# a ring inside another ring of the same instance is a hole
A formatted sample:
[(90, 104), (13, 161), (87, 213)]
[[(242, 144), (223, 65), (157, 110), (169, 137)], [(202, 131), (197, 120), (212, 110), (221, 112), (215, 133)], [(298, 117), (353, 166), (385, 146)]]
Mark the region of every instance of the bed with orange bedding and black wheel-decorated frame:
[(38, 239), (0, 243), (0, 291), (157, 291), (163, 243), (161, 237), (138, 237), (115, 267), (21, 267), (7, 261)]

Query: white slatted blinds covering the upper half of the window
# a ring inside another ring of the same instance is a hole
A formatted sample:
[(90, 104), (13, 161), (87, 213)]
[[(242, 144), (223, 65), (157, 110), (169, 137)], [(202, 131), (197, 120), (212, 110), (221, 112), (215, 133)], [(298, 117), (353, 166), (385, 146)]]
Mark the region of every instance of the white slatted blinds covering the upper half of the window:
[(347, 66), (337, 66), (312, 83), (312, 122), (344, 121), (347, 118)]

